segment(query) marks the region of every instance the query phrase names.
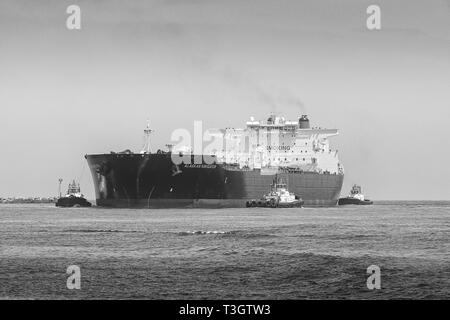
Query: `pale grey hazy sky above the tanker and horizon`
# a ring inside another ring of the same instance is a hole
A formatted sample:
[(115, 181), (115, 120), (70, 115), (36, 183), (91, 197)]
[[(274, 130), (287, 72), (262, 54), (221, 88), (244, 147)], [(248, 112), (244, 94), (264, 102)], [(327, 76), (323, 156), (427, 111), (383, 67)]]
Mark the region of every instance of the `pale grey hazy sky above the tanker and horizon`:
[(93, 199), (84, 155), (140, 151), (147, 119), (156, 150), (276, 112), (339, 129), (342, 194), (450, 200), (450, 1), (2, 0), (0, 111), (0, 197)]

